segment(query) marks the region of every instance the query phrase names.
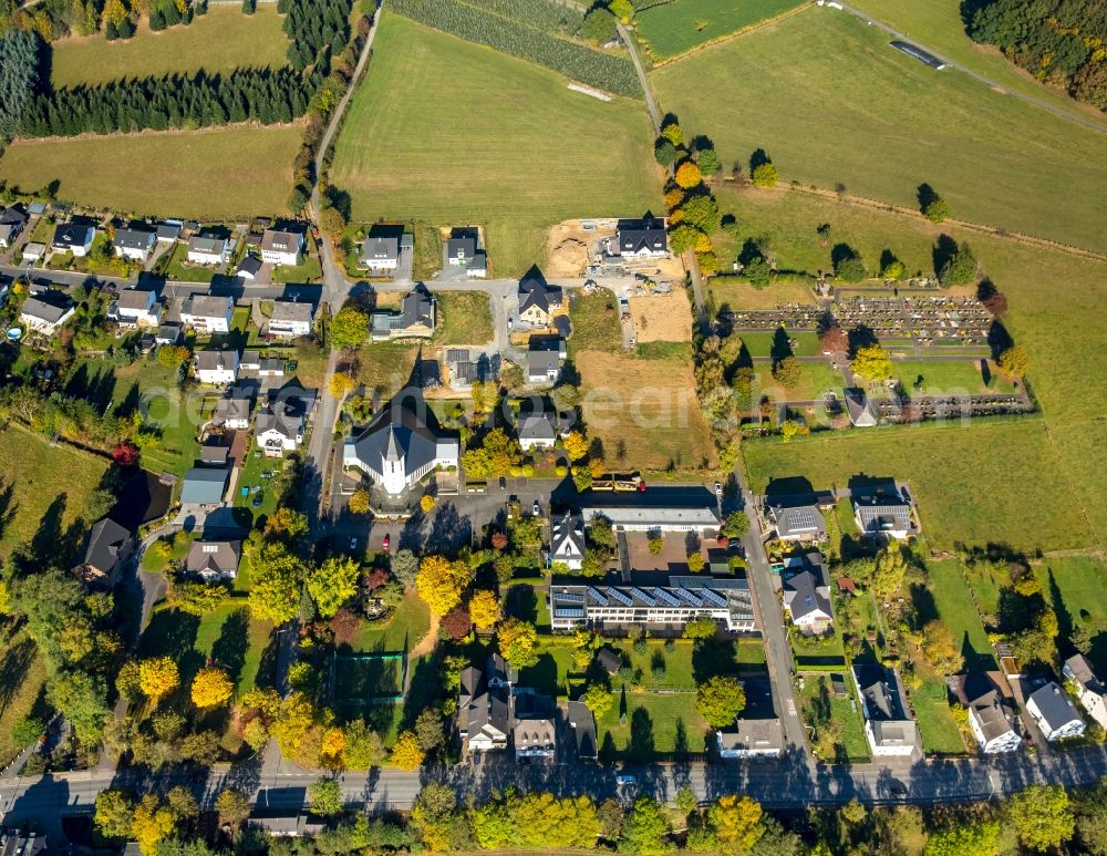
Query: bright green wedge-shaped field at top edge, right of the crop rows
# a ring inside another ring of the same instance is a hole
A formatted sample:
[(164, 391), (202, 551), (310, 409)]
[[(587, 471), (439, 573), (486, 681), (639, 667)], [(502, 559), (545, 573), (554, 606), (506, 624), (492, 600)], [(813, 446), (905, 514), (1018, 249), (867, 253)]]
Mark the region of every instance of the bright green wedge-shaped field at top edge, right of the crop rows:
[(644, 9), (634, 29), (654, 60), (745, 30), (795, 9), (804, 0), (672, 0)]

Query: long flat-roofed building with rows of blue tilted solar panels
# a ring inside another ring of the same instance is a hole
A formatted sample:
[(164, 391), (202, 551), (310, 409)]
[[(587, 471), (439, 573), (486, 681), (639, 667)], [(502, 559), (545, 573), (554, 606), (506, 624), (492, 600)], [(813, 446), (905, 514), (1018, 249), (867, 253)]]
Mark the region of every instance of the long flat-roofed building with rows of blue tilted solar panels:
[(730, 632), (755, 626), (744, 579), (672, 576), (668, 586), (552, 585), (547, 605), (555, 631), (608, 632), (642, 625), (671, 631), (699, 618), (712, 618)]

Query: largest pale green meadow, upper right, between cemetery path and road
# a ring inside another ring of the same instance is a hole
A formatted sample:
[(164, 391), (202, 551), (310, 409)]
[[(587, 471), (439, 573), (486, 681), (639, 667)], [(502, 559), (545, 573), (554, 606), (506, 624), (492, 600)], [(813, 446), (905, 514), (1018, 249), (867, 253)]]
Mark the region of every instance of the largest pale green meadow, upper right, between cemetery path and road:
[[(754, 79), (756, 86), (743, 85)], [(813, 7), (651, 80), (689, 133), (714, 140), (724, 166), (746, 169), (763, 148), (784, 181), (841, 184), (912, 207), (929, 183), (956, 217), (1103, 249), (1099, 132), (935, 72), (852, 16)], [(836, 81), (829, 96), (828, 80)], [(774, 105), (770, 126), (743, 121), (764, 104)], [(823, 133), (804, 133), (813, 125)], [(834, 157), (821, 156), (825, 136), (835, 140)]]

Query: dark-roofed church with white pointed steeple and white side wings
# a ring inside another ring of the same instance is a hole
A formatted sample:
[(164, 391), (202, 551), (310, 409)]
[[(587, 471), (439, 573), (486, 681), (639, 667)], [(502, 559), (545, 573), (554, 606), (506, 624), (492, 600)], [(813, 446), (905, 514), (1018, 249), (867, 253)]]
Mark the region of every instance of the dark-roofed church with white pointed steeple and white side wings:
[(423, 399), (421, 357), (401, 390), (356, 437), (346, 437), (343, 465), (366, 473), (385, 493), (399, 496), (437, 467), (456, 468), (457, 437), (438, 431)]

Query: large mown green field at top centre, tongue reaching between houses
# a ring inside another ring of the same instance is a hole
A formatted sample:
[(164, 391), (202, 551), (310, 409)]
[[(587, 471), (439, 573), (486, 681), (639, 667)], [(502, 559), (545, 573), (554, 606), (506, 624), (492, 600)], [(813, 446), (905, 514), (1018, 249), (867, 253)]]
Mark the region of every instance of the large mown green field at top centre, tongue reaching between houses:
[(641, 103), (385, 13), (330, 175), (356, 219), (483, 224), (492, 274), (513, 276), (554, 223), (660, 209), (650, 137)]

